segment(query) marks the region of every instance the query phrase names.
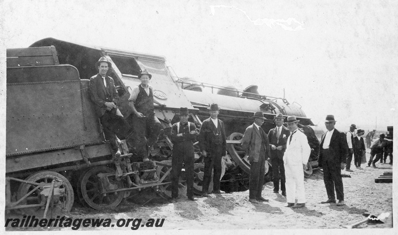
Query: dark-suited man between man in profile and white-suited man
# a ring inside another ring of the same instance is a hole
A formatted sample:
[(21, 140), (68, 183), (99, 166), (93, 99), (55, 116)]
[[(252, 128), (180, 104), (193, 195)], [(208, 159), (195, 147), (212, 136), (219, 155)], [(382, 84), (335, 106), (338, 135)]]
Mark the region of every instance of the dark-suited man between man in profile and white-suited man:
[(285, 167), (283, 155), (286, 150), (286, 142), (290, 135), (288, 128), (283, 126), (284, 117), (278, 114), (274, 117), (276, 127), (268, 132), (268, 140), (271, 146), (272, 179), (274, 182), (274, 193), (279, 193), (279, 177), (281, 177), (282, 195), (286, 196)]

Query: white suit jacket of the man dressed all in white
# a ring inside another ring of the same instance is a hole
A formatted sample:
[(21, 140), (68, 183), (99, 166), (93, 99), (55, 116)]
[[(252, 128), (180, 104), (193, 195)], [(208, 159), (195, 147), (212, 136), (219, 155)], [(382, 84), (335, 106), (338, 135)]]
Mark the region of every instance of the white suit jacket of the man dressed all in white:
[(297, 129), (292, 137), (288, 139), (283, 161), (287, 165), (299, 165), (301, 168), (302, 164), (307, 164), (310, 153), (311, 148), (309, 147), (307, 136)]

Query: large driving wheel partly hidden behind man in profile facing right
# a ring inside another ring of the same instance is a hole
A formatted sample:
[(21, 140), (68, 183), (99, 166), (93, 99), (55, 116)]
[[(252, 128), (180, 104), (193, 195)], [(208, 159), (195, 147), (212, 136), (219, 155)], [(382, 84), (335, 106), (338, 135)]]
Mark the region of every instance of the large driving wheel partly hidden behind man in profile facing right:
[[(234, 132), (228, 136), (229, 140), (241, 140), (242, 133)], [(227, 144), (228, 153), (239, 167), (247, 174), (250, 174), (250, 162), (246, 152), (242, 149), (240, 143)]]

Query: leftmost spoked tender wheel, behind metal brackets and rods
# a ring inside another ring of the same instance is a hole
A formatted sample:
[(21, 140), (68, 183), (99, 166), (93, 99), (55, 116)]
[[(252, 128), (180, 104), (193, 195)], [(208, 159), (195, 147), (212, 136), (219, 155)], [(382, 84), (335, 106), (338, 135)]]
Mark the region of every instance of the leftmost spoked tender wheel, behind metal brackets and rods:
[[(58, 180), (61, 180), (64, 182), (64, 184), (62, 186), (60, 186), (60, 188), (65, 189), (65, 197), (60, 197), (59, 201), (62, 206), (65, 205), (65, 208), (61, 208), (61, 205), (58, 205), (57, 207), (54, 207), (52, 213), (59, 214), (62, 212), (61, 209), (70, 211), (72, 209), (75, 197), (73, 195), (73, 188), (72, 188), (71, 183), (63, 175), (61, 175), (57, 172), (54, 172), (54, 171), (42, 171), (42, 172), (37, 172), (37, 173), (34, 173), (34, 174), (28, 176), (25, 180), (32, 181), (35, 183), (51, 183), (51, 181), (53, 179), (58, 179)], [(35, 185), (21, 183), (19, 185), (19, 188), (17, 191), (18, 200), (20, 198), (22, 198), (23, 196), (25, 196), (27, 193), (29, 193), (35, 187), (36, 187)], [(42, 196), (40, 194), (40, 190), (37, 189), (35, 192), (30, 194), (25, 200), (23, 200), (20, 203), (20, 205), (40, 204), (41, 198), (42, 198)], [(42, 208), (33, 207), (33, 208), (25, 208), (25, 209), (21, 209), (21, 210), (24, 211), (26, 214), (34, 214), (34, 213), (43, 213), (44, 214), (44, 209), (45, 209), (45, 207), (42, 207)]]

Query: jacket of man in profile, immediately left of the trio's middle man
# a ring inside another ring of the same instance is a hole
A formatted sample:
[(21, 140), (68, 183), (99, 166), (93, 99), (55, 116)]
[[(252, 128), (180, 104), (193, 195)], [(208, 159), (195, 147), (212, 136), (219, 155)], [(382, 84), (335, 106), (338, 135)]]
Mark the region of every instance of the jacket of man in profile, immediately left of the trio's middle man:
[[(260, 131), (262, 133), (260, 133)], [(264, 138), (261, 135), (263, 135)], [(265, 159), (267, 159), (271, 155), (270, 144), (268, 141), (267, 134), (265, 133), (263, 128), (257, 129), (254, 123), (252, 125), (249, 125), (246, 128), (242, 138), (242, 148), (249, 156), (248, 158), (249, 161), (258, 162), (258, 160), (260, 159), (260, 151), (262, 144), (264, 144), (264, 148), (266, 150), (264, 154), (265, 154)]]

